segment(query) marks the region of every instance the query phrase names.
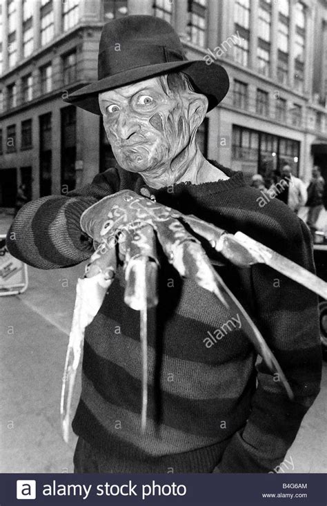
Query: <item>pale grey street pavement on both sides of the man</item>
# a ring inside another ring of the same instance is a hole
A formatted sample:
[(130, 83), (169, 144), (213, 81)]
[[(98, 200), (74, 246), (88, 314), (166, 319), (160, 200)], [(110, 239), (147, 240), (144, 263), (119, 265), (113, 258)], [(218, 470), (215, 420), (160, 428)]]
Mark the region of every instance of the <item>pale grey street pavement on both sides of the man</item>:
[[(0, 233), (12, 217), (1, 214)], [(0, 472), (72, 472), (76, 436), (61, 437), (63, 364), (83, 264), (42, 271), (28, 267), (28, 289), (0, 298)], [(77, 373), (73, 412), (80, 391)], [(279, 472), (327, 472), (327, 363), (321, 393), (301, 424)], [(278, 469), (276, 469), (278, 471)]]

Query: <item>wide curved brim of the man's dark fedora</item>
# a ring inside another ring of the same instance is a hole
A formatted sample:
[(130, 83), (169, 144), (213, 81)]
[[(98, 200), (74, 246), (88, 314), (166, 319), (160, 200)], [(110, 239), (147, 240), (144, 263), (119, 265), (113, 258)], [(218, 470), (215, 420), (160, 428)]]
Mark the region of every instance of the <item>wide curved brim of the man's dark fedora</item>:
[(163, 64), (146, 65), (131, 68), (115, 75), (104, 77), (88, 86), (83, 86), (63, 101), (73, 104), (89, 113), (101, 116), (99, 108), (99, 93), (132, 84), (143, 79), (150, 79), (156, 75), (166, 74), (173, 70), (181, 70), (190, 77), (195, 90), (208, 98), (208, 111), (217, 106), (225, 97), (229, 88), (226, 70), (220, 65), (206, 64), (205, 61), (171, 61)]

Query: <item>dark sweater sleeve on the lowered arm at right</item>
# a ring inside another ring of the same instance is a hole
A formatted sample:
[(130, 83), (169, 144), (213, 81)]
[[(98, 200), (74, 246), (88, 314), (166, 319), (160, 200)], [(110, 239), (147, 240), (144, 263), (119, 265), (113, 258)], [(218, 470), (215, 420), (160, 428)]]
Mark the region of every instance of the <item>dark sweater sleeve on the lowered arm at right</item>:
[[(299, 220), (288, 257), (314, 271), (312, 246), (306, 225)], [(300, 284), (270, 269), (252, 267), (252, 289), (257, 325), (281, 369), (295, 399), (291, 401), (278, 375), (261, 362), (257, 389), (245, 427), (232, 437), (221, 463), (222, 473), (264, 473), (279, 465), (292, 445), (301, 420), (319, 393), (321, 347), (317, 296)]]

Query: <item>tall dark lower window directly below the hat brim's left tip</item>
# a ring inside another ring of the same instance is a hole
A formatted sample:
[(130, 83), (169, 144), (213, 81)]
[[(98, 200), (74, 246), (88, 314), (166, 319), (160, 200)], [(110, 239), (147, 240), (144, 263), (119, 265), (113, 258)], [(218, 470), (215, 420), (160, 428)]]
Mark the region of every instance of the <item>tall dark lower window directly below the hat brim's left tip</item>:
[(76, 184), (76, 108), (61, 109), (61, 188), (73, 190)]

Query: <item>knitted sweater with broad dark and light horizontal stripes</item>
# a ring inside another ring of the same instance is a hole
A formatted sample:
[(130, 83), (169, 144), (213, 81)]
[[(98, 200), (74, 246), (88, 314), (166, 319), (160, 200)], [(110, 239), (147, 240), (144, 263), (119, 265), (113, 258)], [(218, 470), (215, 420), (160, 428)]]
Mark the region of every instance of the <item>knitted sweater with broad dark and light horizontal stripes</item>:
[[(211, 162), (215, 163), (215, 162)], [(261, 194), (241, 173), (154, 190), (157, 202), (195, 214), (231, 233), (240, 230), (310, 271), (306, 225)], [(81, 213), (143, 179), (111, 168), (92, 184), (23, 207), (8, 232), (12, 255), (41, 269), (90, 257)], [(267, 266), (217, 267), (273, 350), (295, 394), (291, 402), (232, 315), (212, 293), (181, 280), (161, 257), (159, 305), (148, 314), (148, 421), (140, 433), (139, 313), (123, 303), (123, 269), (86, 328), (76, 434), (106, 458), (104, 472), (267, 472), (278, 465), (312, 405), (321, 378), (317, 297)]]

